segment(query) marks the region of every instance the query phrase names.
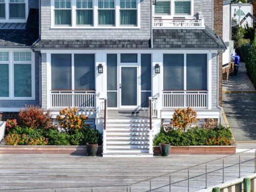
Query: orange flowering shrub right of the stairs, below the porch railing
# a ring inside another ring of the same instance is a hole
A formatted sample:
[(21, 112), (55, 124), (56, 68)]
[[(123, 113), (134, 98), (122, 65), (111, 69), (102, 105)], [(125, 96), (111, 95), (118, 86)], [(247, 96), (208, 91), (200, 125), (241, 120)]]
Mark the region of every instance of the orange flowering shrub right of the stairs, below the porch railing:
[(198, 120), (197, 112), (189, 107), (187, 109), (175, 109), (171, 125), (184, 131), (191, 123), (198, 123)]

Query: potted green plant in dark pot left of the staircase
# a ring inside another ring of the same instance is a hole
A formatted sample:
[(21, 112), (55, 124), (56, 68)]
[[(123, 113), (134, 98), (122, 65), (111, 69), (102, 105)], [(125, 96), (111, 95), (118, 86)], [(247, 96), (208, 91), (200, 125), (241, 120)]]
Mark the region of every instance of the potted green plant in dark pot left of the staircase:
[(86, 150), (88, 156), (96, 156), (98, 151), (98, 134), (95, 130), (89, 129)]

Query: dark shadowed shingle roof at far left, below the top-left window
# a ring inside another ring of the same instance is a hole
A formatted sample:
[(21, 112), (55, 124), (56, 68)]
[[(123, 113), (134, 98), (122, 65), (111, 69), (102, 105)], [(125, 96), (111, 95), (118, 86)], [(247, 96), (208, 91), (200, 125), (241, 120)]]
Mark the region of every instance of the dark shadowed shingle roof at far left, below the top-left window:
[(38, 17), (38, 9), (30, 9), (25, 28), (0, 28), (0, 47), (32, 46), (39, 37)]

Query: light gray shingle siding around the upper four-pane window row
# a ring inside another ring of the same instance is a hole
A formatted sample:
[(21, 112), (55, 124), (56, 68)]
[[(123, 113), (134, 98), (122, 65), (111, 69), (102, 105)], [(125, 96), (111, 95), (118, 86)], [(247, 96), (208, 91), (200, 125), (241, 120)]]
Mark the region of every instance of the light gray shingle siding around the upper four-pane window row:
[(140, 29), (50, 29), (51, 2), (41, 1), (41, 39), (150, 39), (150, 0), (141, 0)]

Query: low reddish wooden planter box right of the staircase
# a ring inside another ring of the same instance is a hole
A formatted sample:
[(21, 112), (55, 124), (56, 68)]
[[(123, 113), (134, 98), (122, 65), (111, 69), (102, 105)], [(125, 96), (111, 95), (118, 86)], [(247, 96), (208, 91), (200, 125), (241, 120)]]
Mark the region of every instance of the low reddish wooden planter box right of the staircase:
[[(231, 155), (236, 154), (235, 145), (230, 146), (171, 146), (170, 155)], [(154, 154), (160, 154), (159, 146), (154, 146)]]

